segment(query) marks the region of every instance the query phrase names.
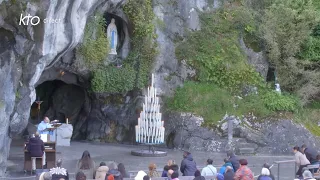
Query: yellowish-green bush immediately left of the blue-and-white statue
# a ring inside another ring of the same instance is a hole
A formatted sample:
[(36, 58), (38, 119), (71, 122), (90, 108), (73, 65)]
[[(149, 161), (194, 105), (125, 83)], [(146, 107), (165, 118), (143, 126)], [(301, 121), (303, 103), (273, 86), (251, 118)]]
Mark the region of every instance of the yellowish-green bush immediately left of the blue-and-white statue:
[(79, 47), (79, 52), (91, 69), (96, 69), (103, 64), (110, 50), (105, 23), (103, 16), (96, 15), (86, 24), (83, 43)]

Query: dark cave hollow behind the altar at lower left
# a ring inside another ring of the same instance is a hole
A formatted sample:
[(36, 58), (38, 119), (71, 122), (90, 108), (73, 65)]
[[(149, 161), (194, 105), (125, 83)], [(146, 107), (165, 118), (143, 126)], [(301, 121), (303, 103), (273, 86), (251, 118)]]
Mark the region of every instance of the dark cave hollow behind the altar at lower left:
[(33, 103), (30, 112), (30, 122), (38, 124), (44, 116), (50, 120), (74, 124), (86, 100), (85, 90), (76, 85), (66, 84), (60, 80), (46, 81), (36, 87), (37, 100), (42, 101), (40, 110)]

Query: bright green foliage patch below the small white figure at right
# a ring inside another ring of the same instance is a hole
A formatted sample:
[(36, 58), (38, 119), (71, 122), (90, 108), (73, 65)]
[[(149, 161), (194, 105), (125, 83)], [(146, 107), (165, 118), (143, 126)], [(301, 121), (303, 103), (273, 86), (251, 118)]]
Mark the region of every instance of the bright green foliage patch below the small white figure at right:
[(262, 97), (266, 107), (271, 111), (297, 111), (299, 100), (290, 95), (282, 95), (276, 91), (267, 92)]

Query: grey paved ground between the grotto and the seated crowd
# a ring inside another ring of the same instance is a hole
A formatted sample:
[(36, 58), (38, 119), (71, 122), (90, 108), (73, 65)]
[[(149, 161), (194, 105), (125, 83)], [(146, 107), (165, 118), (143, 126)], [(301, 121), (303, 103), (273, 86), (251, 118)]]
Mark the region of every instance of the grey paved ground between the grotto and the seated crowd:
[[(168, 159), (174, 159), (178, 164), (182, 160), (182, 152), (178, 150), (166, 150), (168, 156), (166, 157), (137, 157), (130, 154), (131, 150), (141, 149), (141, 146), (130, 145), (116, 145), (116, 144), (97, 144), (88, 142), (71, 142), (70, 147), (57, 147), (57, 158), (64, 160), (64, 167), (69, 172), (75, 172), (76, 162), (81, 157), (82, 152), (88, 150), (91, 157), (95, 160), (96, 164), (101, 161), (116, 161), (122, 162), (126, 166), (128, 171), (146, 170), (148, 164), (153, 162), (158, 165), (159, 171), (162, 170)], [(15, 164), (8, 168), (8, 177), (5, 179), (32, 179), (28, 174), (23, 173), (23, 142), (15, 140), (12, 143), (9, 160), (12, 164)], [(197, 165), (202, 167), (205, 164), (207, 158), (212, 158), (214, 164), (220, 167), (223, 164), (223, 159), (226, 157), (225, 153), (213, 153), (213, 152), (192, 152)], [(292, 160), (293, 156), (241, 156), (241, 158), (247, 158), (250, 168), (255, 175), (260, 174), (262, 164), (267, 162), (273, 164), (274, 161)], [(277, 165), (272, 168), (272, 173), (277, 176)], [(281, 165), (281, 180), (292, 180), (294, 176), (294, 164), (282, 164)], [(28, 178), (29, 177), (29, 178)], [(0, 178), (1, 179), (1, 178)], [(33, 178), (34, 179), (34, 178)]]

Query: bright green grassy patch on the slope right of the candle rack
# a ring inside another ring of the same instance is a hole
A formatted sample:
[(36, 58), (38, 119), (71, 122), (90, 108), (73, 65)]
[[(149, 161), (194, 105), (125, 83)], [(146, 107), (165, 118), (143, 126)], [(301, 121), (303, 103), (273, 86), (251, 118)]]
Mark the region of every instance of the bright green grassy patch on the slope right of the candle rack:
[(210, 83), (186, 82), (176, 90), (174, 98), (167, 100), (167, 105), (169, 110), (201, 115), (205, 123), (215, 123), (226, 113), (239, 116), (253, 113), (260, 117), (271, 113), (257, 95), (238, 99), (228, 90)]

